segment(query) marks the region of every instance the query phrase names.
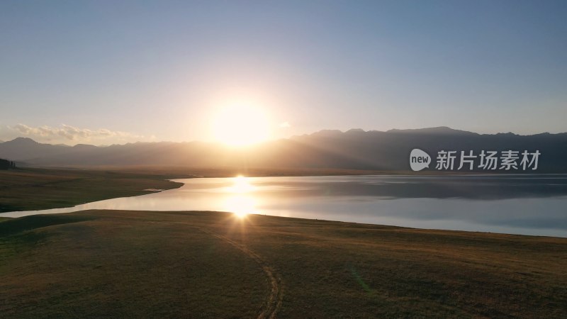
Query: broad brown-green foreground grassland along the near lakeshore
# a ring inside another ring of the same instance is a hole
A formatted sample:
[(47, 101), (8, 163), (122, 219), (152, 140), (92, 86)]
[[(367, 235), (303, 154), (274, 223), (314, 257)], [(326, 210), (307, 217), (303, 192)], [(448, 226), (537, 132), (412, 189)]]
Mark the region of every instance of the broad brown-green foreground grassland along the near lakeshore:
[(215, 212), (0, 222), (7, 318), (255, 318), (266, 268), (277, 318), (567, 317), (566, 238)]

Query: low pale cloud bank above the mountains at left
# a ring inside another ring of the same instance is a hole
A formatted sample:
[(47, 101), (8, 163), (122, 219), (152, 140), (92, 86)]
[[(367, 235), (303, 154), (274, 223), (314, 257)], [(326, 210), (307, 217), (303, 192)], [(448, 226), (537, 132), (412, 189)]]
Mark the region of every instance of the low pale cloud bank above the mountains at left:
[(26, 124), (18, 123), (8, 127), (14, 133), (27, 135), (34, 140), (43, 140), (47, 142), (124, 142), (131, 140), (141, 140), (143, 136), (133, 133), (122, 132), (119, 130), (108, 130), (101, 128), (99, 130), (91, 130), (89, 128), (77, 128), (71, 125), (62, 124), (60, 127), (38, 126), (32, 127)]

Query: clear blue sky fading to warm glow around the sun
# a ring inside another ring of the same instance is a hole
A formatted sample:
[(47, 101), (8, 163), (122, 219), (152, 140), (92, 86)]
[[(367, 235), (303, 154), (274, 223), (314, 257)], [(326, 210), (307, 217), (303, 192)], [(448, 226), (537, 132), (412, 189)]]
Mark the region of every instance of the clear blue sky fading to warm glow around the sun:
[(567, 131), (567, 1), (0, 1), (0, 140)]

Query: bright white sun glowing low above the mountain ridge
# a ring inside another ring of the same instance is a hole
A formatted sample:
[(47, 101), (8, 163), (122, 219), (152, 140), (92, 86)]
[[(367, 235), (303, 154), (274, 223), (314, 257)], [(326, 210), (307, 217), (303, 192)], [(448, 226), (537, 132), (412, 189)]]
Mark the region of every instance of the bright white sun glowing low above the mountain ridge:
[(249, 105), (221, 108), (212, 121), (213, 136), (230, 146), (247, 146), (269, 139), (266, 112)]

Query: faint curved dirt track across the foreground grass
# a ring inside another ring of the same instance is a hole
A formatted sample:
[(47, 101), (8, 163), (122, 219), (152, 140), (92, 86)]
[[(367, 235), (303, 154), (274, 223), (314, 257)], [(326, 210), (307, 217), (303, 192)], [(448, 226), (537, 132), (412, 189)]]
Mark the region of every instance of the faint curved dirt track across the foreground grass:
[(283, 295), (281, 293), (281, 277), (278, 274), (276, 274), (274, 268), (271, 267), (266, 261), (264, 261), (264, 259), (262, 259), (262, 257), (260, 257), (257, 253), (253, 252), (252, 250), (249, 250), (245, 245), (241, 245), (235, 242), (234, 240), (230, 240), (229, 238), (223, 235), (215, 234), (203, 228), (198, 228), (198, 230), (201, 230), (203, 233), (207, 233), (221, 240), (224, 240), (225, 242), (228, 242), (230, 245), (236, 247), (238, 250), (241, 250), (242, 252), (247, 254), (248, 257), (254, 259), (254, 261), (257, 262), (257, 264), (259, 264), (260, 267), (262, 267), (262, 269), (266, 273), (266, 276), (268, 276), (268, 280), (271, 286), (271, 292), (268, 298), (266, 298), (266, 302), (264, 303), (264, 306), (262, 306), (262, 312), (259, 313), (258, 319), (276, 318), (276, 313), (278, 312), (279, 308), (281, 308), (281, 301)]

